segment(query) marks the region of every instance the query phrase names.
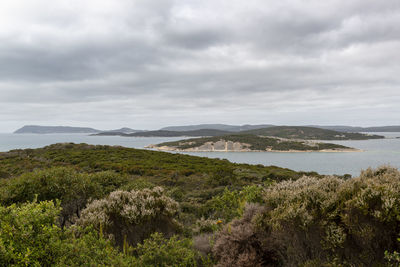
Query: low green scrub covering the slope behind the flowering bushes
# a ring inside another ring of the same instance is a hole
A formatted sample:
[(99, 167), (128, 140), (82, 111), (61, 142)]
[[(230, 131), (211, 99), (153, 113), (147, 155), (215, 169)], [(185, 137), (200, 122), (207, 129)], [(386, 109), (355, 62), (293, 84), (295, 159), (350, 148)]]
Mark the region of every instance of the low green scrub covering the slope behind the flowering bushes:
[[(58, 198), (67, 225), (79, 217), (89, 198), (103, 198), (117, 189), (154, 186), (170, 192), (181, 204), (181, 217), (186, 218), (183, 222), (193, 224), (204, 216), (206, 202), (221, 194), (225, 186), (241, 190), (247, 185), (298, 179), (305, 174), (276, 166), (86, 144), (55, 144), (0, 153), (0, 172), (9, 177), (0, 179), (3, 204), (32, 200), (34, 194), (39, 200)], [(108, 179), (96, 181), (96, 177)]]

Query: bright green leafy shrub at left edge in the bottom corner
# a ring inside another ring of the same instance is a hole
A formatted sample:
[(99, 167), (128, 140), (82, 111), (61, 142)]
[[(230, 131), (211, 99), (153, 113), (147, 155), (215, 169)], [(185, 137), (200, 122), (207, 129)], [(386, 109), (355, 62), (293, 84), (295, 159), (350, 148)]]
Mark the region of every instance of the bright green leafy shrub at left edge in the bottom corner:
[(60, 249), (59, 204), (0, 206), (0, 265), (50, 265)]

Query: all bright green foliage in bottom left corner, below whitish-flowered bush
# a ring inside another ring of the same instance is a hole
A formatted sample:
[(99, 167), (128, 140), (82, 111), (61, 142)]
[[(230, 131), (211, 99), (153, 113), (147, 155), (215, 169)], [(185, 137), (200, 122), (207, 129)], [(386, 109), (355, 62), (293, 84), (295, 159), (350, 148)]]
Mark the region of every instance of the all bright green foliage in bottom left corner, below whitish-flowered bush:
[(0, 206), (0, 266), (129, 266), (132, 257), (118, 252), (90, 229), (75, 236), (56, 223), (59, 203)]

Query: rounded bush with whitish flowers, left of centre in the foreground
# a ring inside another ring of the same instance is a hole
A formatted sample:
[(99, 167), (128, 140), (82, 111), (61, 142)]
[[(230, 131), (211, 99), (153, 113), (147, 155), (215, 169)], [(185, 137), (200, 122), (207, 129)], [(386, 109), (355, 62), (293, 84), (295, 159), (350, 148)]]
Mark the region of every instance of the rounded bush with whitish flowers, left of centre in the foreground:
[(82, 211), (78, 225), (93, 225), (110, 235), (122, 247), (125, 242), (135, 246), (159, 231), (166, 235), (176, 232), (174, 220), (178, 203), (164, 194), (161, 187), (140, 191), (114, 191), (95, 200)]

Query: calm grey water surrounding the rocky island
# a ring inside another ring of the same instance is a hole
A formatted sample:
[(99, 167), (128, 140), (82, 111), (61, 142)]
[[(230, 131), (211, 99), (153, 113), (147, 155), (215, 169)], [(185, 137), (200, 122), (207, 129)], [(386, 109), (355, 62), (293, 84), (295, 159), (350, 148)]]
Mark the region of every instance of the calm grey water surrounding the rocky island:
[[(321, 174), (352, 174), (357, 176), (361, 169), (390, 164), (400, 168), (400, 133), (377, 133), (388, 139), (365, 141), (336, 141), (334, 143), (359, 148), (364, 152), (346, 153), (266, 153), (266, 152), (190, 152), (195, 156), (224, 158), (232, 162), (276, 165), (293, 170), (317, 171)], [(148, 144), (174, 141), (180, 137), (119, 137), (88, 136), (82, 134), (0, 134), (0, 151), (16, 148), (38, 148), (60, 142), (120, 145), (143, 148)]]

